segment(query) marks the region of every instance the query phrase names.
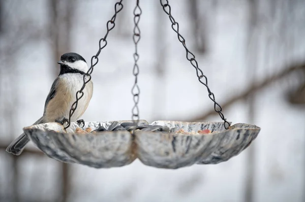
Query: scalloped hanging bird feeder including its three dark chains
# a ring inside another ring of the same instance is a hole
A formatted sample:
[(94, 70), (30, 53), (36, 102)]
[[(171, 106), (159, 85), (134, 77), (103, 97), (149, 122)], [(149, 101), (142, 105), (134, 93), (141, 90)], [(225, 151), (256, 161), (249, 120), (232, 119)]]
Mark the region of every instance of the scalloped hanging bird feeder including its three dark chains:
[(200, 83), (214, 102), (214, 109), (223, 122), (182, 122), (154, 121), (148, 123), (139, 120), (139, 86), (137, 83), (139, 54), (137, 45), (140, 40), (138, 23), (141, 16), (139, 0), (134, 9), (135, 44), (132, 87), (134, 107), (132, 120), (86, 122), (82, 127), (70, 122), (71, 116), (83, 96), (83, 89), (91, 79), (94, 66), (98, 63), (101, 50), (107, 45), (108, 33), (115, 26), (116, 15), (123, 9), (122, 1), (115, 4), (115, 14), (107, 22), (107, 32), (99, 42), (99, 50), (91, 58), (90, 69), (83, 77), (83, 86), (76, 93), (69, 121), (64, 126), (60, 123), (44, 123), (23, 128), (27, 137), (48, 157), (65, 163), (78, 163), (90, 167), (117, 167), (133, 162), (136, 158), (149, 166), (165, 169), (177, 169), (193, 164), (216, 164), (238, 155), (257, 137), (260, 128), (255, 125), (237, 123), (231, 126), (216, 102), (214, 93), (207, 85), (207, 78), (198, 67), (195, 55), (186, 46), (186, 40), (179, 33), (179, 24), (171, 15), (171, 7), (160, 1), (164, 12), (169, 16), (178, 40), (186, 49), (186, 57), (196, 70)]

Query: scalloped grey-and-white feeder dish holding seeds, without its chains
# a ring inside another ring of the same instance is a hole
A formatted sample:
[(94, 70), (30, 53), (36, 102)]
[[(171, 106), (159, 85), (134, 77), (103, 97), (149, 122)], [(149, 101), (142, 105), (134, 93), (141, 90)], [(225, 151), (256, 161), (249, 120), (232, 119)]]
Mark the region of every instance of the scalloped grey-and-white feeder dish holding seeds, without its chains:
[[(126, 122), (132, 121), (117, 121)], [(148, 124), (145, 120), (140, 120), (138, 127), (149, 125), (150, 131), (145, 127), (134, 134), (133, 130), (94, 131), (101, 126), (109, 129), (113, 123), (86, 122), (82, 129), (77, 123), (67, 129), (59, 123), (45, 123), (23, 130), (48, 157), (61, 162), (103, 168), (124, 166), (139, 158), (145, 165), (164, 169), (226, 161), (247, 148), (260, 131), (255, 125), (243, 123), (225, 129), (223, 122)]]

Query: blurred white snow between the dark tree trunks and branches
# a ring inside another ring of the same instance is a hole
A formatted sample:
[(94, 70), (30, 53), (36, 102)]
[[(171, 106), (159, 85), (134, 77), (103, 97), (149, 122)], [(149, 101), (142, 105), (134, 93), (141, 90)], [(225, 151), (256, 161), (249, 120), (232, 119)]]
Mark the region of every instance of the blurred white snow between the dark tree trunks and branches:
[[(32, 1), (31, 4), (36, 4)], [(71, 51), (82, 55), (87, 61), (98, 50), (98, 41), (105, 34), (106, 20), (113, 14), (113, 1), (77, 1), (71, 36)], [(192, 47), (192, 32), (188, 28), (189, 16), (187, 1), (170, 1), (172, 14), (180, 24), (180, 31)], [(230, 2), (230, 3), (228, 3)], [(219, 7), (211, 15), (209, 22), (209, 53), (201, 56), (195, 52), (200, 68), (208, 78), (209, 86), (215, 93), (219, 104), (242, 92), (249, 86), (247, 68), (247, 4), (241, 0), (219, 1)], [(45, 2), (44, 2), (45, 3)], [(155, 1), (142, 1), (143, 15), (140, 20), (142, 38), (139, 42), (139, 86), (140, 118), (149, 122), (161, 119), (188, 120), (213, 107), (207, 91), (196, 77), (193, 66), (185, 58), (185, 50), (171, 29), (169, 19), (164, 14), (166, 31), (167, 60), (164, 85), (157, 84), (155, 64), (158, 61), (155, 43), (157, 43)], [(37, 5), (43, 8), (42, 5)], [(295, 6), (297, 19), (304, 22), (305, 5)], [(26, 7), (28, 8), (28, 7)], [(160, 8), (161, 9), (161, 6)], [(122, 12), (126, 12), (125, 31), (132, 31), (132, 3), (126, 2)], [(37, 13), (43, 16), (44, 12)], [(41, 19), (43, 24), (46, 19)], [(123, 20), (123, 19), (117, 19)], [(39, 20), (38, 20), (39, 21)], [(120, 21), (117, 21), (118, 25)], [(271, 35), (271, 48), (265, 50), (266, 37), (261, 37), (261, 50), (257, 70), (257, 80), (278, 72), (285, 64), (304, 59), (305, 30), (295, 22), (288, 36), (294, 46), (291, 51), (283, 49), (282, 40), (276, 40), (278, 29), (265, 29)], [(270, 24), (270, 23), (269, 23)], [(272, 24), (272, 23), (271, 23)], [(115, 27), (117, 28), (117, 27)], [(260, 34), (264, 31), (260, 29)], [(273, 30), (273, 31), (272, 31)], [(93, 72), (94, 95), (83, 115), (85, 121), (129, 120), (133, 99), (131, 87), (134, 45), (131, 36), (117, 36), (115, 29), (109, 34), (108, 45), (101, 52), (100, 60)], [(270, 53), (269, 53), (270, 52)], [(18, 81), (18, 114), (16, 137), (22, 127), (31, 125), (43, 112), (45, 97), (48, 94), (54, 75), (51, 68), (50, 48), (46, 42), (29, 43), (18, 52), (15, 64)], [(263, 58), (267, 58), (264, 62)], [(26, 64), (26, 65), (25, 65)], [(267, 66), (267, 68), (266, 68)], [(156, 85), (161, 87), (156, 90)], [(161, 85), (161, 86), (160, 86)], [(297, 85), (294, 83), (294, 86)], [(251, 124), (261, 127), (258, 138), (250, 147), (255, 148), (255, 186), (256, 202), (263, 201), (302, 201), (305, 187), (305, 116), (304, 108), (293, 107), (284, 99), (287, 83), (278, 82), (262, 90), (256, 96), (255, 120)], [(156, 96), (154, 93), (161, 93)], [(162, 97), (157, 100), (156, 97)], [(164, 98), (164, 99), (163, 99)], [(162, 104), (156, 106), (155, 102)], [(249, 123), (248, 105), (238, 102), (224, 111), (233, 123)], [(220, 121), (217, 115), (210, 121)], [(34, 148), (30, 143), (28, 148)], [(112, 169), (96, 170), (83, 165), (71, 166), (71, 195), (69, 201), (232, 201), (242, 202), (245, 192), (247, 156), (249, 149), (227, 162), (217, 165), (193, 165), (178, 170), (156, 169), (143, 165), (139, 160), (132, 164)], [(9, 177), (9, 158), (0, 153), (0, 184), (3, 186)], [(47, 157), (19, 157), (21, 172), (20, 190), (26, 198), (45, 196), (52, 198), (58, 190), (56, 179), (59, 163)], [(8, 191), (6, 188), (3, 190)], [(35, 190), (35, 191), (33, 191)], [(39, 191), (38, 191), (39, 190)], [(0, 191), (0, 194), (5, 192)], [(50, 194), (50, 195), (48, 195)]]

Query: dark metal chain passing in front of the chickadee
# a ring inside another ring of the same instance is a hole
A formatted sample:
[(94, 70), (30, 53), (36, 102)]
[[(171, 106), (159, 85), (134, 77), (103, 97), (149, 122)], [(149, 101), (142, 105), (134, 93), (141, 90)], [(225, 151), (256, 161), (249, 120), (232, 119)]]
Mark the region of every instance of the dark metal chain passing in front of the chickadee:
[(110, 30), (112, 30), (114, 28), (114, 26), (115, 26), (114, 22), (115, 22), (116, 14), (118, 14), (118, 12), (120, 12), (123, 9), (122, 1), (123, 0), (120, 0), (119, 2), (115, 3), (115, 5), (114, 5), (114, 12), (115, 13), (112, 16), (112, 18), (110, 20), (108, 20), (108, 22), (107, 22), (107, 32), (106, 32), (106, 35), (104, 36), (104, 38), (100, 39), (100, 41), (99, 41), (99, 50), (98, 50), (96, 55), (92, 56), (90, 68), (87, 71), (87, 73), (84, 74), (84, 77), (83, 77), (83, 85), (82, 85), (81, 89), (76, 92), (76, 101), (71, 106), (70, 113), (69, 113), (69, 121), (67, 121), (68, 125), (65, 127), (65, 129), (67, 129), (70, 126), (70, 124), (71, 124), (71, 117), (72, 117), (72, 115), (74, 114), (74, 112), (75, 112), (75, 110), (77, 108), (78, 101), (84, 95), (83, 90), (85, 88), (85, 85), (91, 80), (91, 74), (93, 72), (94, 66), (99, 61), (98, 56), (100, 55), (102, 49), (105, 48), (106, 45), (107, 45), (107, 40), (106, 39), (107, 39), (107, 36), (108, 36), (108, 33), (110, 32)]

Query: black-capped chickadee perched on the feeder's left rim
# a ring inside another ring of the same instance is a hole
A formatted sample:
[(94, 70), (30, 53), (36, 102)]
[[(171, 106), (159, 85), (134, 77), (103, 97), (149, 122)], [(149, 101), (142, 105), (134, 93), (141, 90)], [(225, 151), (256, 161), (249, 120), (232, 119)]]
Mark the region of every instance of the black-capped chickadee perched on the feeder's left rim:
[[(60, 57), (60, 72), (52, 84), (47, 96), (43, 116), (34, 123), (58, 122), (64, 124), (69, 117), (70, 108), (76, 100), (76, 92), (83, 85), (83, 75), (88, 71), (86, 60), (77, 53), (66, 53)], [(71, 122), (78, 120), (87, 109), (93, 93), (93, 83), (89, 81), (71, 117)], [(83, 122), (83, 120), (78, 120)], [(22, 133), (6, 149), (7, 152), (20, 155), (29, 139)]]

